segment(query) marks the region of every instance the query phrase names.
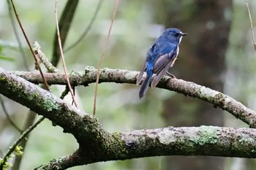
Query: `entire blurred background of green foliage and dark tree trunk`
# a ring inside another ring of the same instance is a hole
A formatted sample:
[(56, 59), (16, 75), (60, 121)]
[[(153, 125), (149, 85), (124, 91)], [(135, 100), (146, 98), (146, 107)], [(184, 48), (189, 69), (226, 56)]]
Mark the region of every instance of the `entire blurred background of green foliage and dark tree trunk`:
[[(66, 2), (59, 1), (59, 18)], [(256, 55), (245, 2), (120, 0), (102, 67), (139, 71), (154, 39), (165, 28), (180, 28), (189, 35), (182, 39), (178, 61), (170, 72), (178, 78), (222, 91), (249, 108), (256, 109)], [(97, 68), (99, 64), (113, 15), (113, 0), (79, 1), (64, 49), (86, 30), (98, 3), (101, 6), (88, 34), (77, 46), (64, 52), (69, 72), (83, 70), (86, 66)], [(17, 0), (15, 4), (29, 40), (39, 42), (45, 55), (52, 58), (56, 32), (54, 1)], [(256, 1), (249, 1), (249, 7), (255, 20)], [(0, 66), (7, 70), (29, 69), (36, 72), (34, 60), (16, 20), (15, 26), (25, 56), (20, 53), (15, 38), (7, 1), (0, 1), (0, 55), (8, 58), (0, 58)], [(63, 70), (61, 64), (58, 68)], [(89, 114), (93, 110), (94, 88), (95, 84), (76, 88), (78, 105)], [(55, 85), (51, 90), (60, 96), (64, 87)], [(107, 131), (131, 131), (170, 125), (248, 127), (204, 101), (158, 88), (149, 88), (146, 96), (139, 100), (138, 90), (136, 85), (99, 84), (97, 117)], [(70, 96), (65, 99), (71, 102)], [(1, 101), (11, 119), (23, 129), (29, 110), (4, 96), (1, 96)], [(1, 105), (0, 157), (18, 136), (19, 132), (7, 120)], [(44, 120), (29, 136), (20, 169), (34, 169), (53, 158), (68, 155), (77, 148), (78, 144), (71, 135), (62, 133), (61, 128)], [(170, 156), (109, 161), (72, 169), (241, 170), (255, 169), (255, 164), (254, 160), (244, 158)]]

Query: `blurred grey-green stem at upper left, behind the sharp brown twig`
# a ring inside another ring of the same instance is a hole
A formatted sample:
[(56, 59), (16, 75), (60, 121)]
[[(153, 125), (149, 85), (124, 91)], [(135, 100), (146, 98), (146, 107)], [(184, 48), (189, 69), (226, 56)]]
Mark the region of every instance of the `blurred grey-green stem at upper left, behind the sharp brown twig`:
[(28, 65), (28, 62), (26, 61), (26, 54), (25, 54), (25, 51), (23, 50), (23, 47), (22, 47), (22, 44), (21, 44), (21, 41), (20, 41), (20, 36), (18, 35), (18, 31), (17, 31), (17, 28), (15, 26), (15, 20), (13, 19), (13, 16), (12, 16), (11, 4), (10, 4), (9, 0), (7, 0), (7, 4), (8, 4), (8, 8), (9, 8), (9, 15), (10, 15), (11, 23), (12, 23), (12, 28), (13, 28), (15, 37), (16, 37), (17, 42), (18, 42), (18, 47), (20, 49), (20, 54), (23, 58), (23, 64), (25, 66), (26, 71), (29, 71), (29, 65)]

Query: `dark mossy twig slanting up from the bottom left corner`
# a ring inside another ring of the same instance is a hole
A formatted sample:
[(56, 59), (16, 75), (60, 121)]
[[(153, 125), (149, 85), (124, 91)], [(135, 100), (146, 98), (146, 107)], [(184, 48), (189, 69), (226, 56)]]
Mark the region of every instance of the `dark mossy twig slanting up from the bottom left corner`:
[(35, 123), (34, 125), (30, 126), (28, 129), (26, 129), (26, 131), (24, 131), (23, 134), (21, 134), (20, 138), (17, 139), (15, 142), (13, 142), (13, 144), (12, 144), (12, 146), (10, 146), (10, 148), (9, 148), (9, 150), (8, 150), (8, 152), (7, 152), (7, 154), (4, 155), (3, 162), (0, 164), (0, 169), (3, 168), (2, 166), (4, 166), (4, 164), (7, 162), (7, 159), (10, 157), (10, 155), (12, 154), (12, 152), (15, 150), (15, 147), (18, 146), (18, 144), (20, 143), (20, 141), (21, 141), (22, 139), (24, 139), (31, 131), (33, 131), (33, 129), (36, 128), (37, 125), (38, 125), (39, 123), (41, 123), (42, 120), (44, 120), (44, 119), (45, 119), (45, 117), (41, 117), (41, 118), (37, 121), (37, 123)]

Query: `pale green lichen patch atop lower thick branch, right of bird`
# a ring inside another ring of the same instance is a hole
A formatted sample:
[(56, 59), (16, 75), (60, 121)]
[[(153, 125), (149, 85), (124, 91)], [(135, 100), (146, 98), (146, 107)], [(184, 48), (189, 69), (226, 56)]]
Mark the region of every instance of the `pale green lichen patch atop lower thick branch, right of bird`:
[(192, 137), (189, 140), (195, 142), (196, 144), (200, 144), (201, 146), (205, 144), (216, 144), (219, 141), (217, 128), (214, 126), (202, 125), (199, 128), (197, 136)]

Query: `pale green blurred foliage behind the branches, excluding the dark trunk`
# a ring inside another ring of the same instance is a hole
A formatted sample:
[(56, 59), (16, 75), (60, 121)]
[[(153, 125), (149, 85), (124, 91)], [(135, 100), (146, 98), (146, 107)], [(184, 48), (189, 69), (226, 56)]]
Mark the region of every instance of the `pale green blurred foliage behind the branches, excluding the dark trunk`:
[[(236, 0), (235, 2), (236, 4), (233, 7), (233, 26), (230, 33), (230, 48), (227, 51), (226, 59), (227, 75), (223, 76), (225, 92), (248, 104), (252, 109), (256, 109), (254, 102), (254, 82), (256, 78), (254, 65), (256, 56), (252, 47), (249, 19), (244, 1)], [(66, 1), (59, 1), (59, 18), (65, 3)], [(83, 34), (94, 14), (97, 3), (98, 1), (95, 0), (79, 2), (71, 31), (68, 34), (66, 47), (72, 45)], [(184, 3), (187, 3), (187, 1), (184, 1)], [(250, 7), (255, 9), (255, 1), (250, 1), (250, 3), (254, 4), (251, 4)], [(17, 0), (15, 4), (30, 41), (39, 42), (43, 53), (50, 59), (53, 50), (53, 34), (56, 29), (54, 1)], [(165, 4), (167, 4), (166, 1)], [(140, 70), (148, 47), (151, 46), (154, 39), (165, 28), (165, 26), (161, 25), (162, 18), (155, 20), (155, 9), (162, 6), (162, 1), (119, 1), (113, 31), (110, 35), (110, 42), (102, 67)], [(85, 66), (98, 66), (108, 34), (113, 7), (114, 1), (103, 1), (89, 34), (76, 47), (64, 53), (69, 72), (83, 70)], [(172, 7), (173, 10), (175, 8)], [(181, 15), (187, 15), (187, 13), (189, 12), (184, 12)], [(162, 14), (162, 17), (164, 18), (165, 14)], [(0, 18), (0, 54), (15, 60), (10, 62), (0, 58), (0, 66), (7, 70), (25, 70), (15, 34), (12, 31), (7, 1), (0, 1)], [(256, 18), (256, 13), (253, 10), (252, 18)], [(18, 24), (16, 26), (18, 27)], [(18, 34), (22, 40), (30, 69), (33, 70), (34, 61), (19, 28)], [(63, 70), (61, 64), (59, 64), (59, 69)], [(78, 105), (80, 109), (89, 114), (92, 113), (93, 109), (94, 88), (94, 84), (86, 88), (76, 88)], [(51, 90), (56, 96), (60, 96), (64, 87), (54, 86), (51, 87)], [(140, 128), (162, 128), (164, 126), (163, 118), (159, 114), (162, 111), (162, 101), (173, 96), (173, 92), (158, 88), (148, 89), (146, 97), (139, 100), (138, 90), (139, 87), (136, 85), (99, 84), (97, 117), (99, 117), (107, 131), (129, 131)], [(65, 99), (71, 103), (70, 96)], [(28, 109), (15, 104), (7, 98), (4, 101), (12, 120), (19, 127), (23, 127)], [(192, 109), (190, 107), (193, 106), (188, 105), (188, 107), (184, 109)], [(1, 107), (0, 113), (0, 155), (2, 155), (10, 147), (10, 144), (18, 138), (18, 132), (8, 123), (6, 117), (2, 114)], [(244, 126), (244, 124), (237, 124), (235, 120), (235, 118), (227, 116), (227, 125)], [(50, 121), (45, 120), (31, 133), (20, 169), (33, 169), (53, 158), (68, 155), (77, 148), (78, 144), (72, 135), (64, 134), (61, 128), (53, 126)], [(233, 166), (232, 161), (230, 159), (227, 169)], [(89, 166), (74, 167), (72, 169), (162, 169), (163, 165), (164, 159), (155, 157), (94, 163)]]

